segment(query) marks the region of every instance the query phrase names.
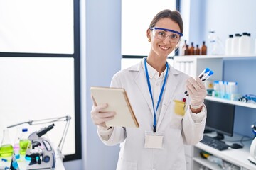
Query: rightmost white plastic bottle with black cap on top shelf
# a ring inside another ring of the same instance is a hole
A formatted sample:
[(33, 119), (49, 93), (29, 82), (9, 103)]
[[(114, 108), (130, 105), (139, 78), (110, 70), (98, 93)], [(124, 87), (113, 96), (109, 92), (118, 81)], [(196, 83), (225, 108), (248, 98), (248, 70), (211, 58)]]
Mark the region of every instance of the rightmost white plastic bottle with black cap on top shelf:
[(239, 38), (239, 55), (250, 55), (251, 52), (251, 40), (250, 36), (247, 33), (242, 33), (242, 36)]

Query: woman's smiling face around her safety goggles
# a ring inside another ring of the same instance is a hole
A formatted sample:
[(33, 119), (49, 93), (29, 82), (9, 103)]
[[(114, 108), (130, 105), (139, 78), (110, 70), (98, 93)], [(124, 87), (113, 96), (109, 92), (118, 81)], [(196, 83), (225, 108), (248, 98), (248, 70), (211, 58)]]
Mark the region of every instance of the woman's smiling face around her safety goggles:
[[(181, 29), (178, 26), (178, 23), (174, 22), (170, 18), (161, 18), (156, 22), (154, 27), (157, 28), (166, 28), (169, 30), (175, 30), (178, 33), (181, 33)], [(147, 37), (151, 40), (151, 50), (149, 52), (149, 56), (151, 57), (160, 57), (163, 60), (166, 60), (167, 56), (175, 49), (177, 43), (170, 42), (169, 37), (166, 37), (164, 40), (160, 40), (159, 38), (155, 38), (153, 36), (152, 30), (148, 29)], [(170, 35), (171, 32), (167, 31), (167, 35)]]

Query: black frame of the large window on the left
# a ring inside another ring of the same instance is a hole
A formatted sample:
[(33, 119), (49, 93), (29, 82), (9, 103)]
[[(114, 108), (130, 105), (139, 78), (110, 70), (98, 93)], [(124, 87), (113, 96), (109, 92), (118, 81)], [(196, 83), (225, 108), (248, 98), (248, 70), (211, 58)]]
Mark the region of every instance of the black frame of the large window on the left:
[(75, 105), (75, 154), (65, 155), (63, 162), (82, 157), (81, 145), (81, 106), (80, 106), (80, 1), (73, 0), (74, 14), (74, 53), (26, 53), (26, 52), (0, 52), (0, 57), (71, 57), (74, 58), (74, 105)]

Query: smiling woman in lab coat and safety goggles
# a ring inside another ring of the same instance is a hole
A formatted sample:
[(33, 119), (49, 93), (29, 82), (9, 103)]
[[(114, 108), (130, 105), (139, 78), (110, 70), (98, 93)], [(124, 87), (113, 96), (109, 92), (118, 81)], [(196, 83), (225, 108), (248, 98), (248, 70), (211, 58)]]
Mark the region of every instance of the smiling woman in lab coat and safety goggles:
[[(91, 117), (105, 145), (120, 143), (118, 170), (186, 169), (184, 144), (203, 137), (206, 89), (201, 79), (189, 77), (166, 62), (183, 35), (178, 11), (156, 14), (146, 30), (151, 43), (148, 57), (114, 74), (111, 86), (124, 88), (139, 128), (107, 127), (114, 112), (107, 104), (92, 106)], [(188, 91), (189, 96), (184, 94)]]

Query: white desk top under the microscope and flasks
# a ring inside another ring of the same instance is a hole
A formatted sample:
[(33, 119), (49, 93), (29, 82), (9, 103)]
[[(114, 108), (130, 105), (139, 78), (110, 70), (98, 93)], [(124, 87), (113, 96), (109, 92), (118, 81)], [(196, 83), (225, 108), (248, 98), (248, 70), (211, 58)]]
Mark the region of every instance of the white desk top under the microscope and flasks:
[[(10, 167), (11, 166), (11, 157), (8, 158), (4, 158), (7, 159), (7, 162), (1, 162), (0, 163), (0, 167)], [(65, 170), (65, 167), (63, 165), (62, 160), (60, 159), (60, 157), (56, 158), (56, 166), (55, 166), (55, 170)], [(28, 166), (29, 162), (28, 161), (21, 161), (18, 160), (18, 167), (20, 170), (26, 170), (26, 166)], [(1, 170), (1, 169), (0, 169)]]

